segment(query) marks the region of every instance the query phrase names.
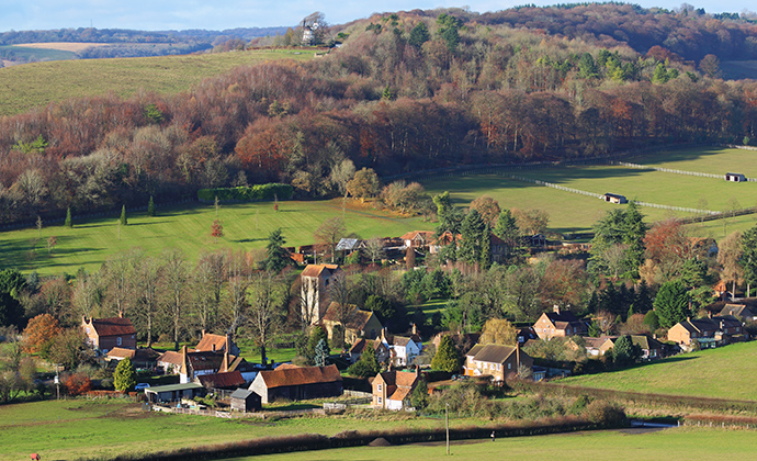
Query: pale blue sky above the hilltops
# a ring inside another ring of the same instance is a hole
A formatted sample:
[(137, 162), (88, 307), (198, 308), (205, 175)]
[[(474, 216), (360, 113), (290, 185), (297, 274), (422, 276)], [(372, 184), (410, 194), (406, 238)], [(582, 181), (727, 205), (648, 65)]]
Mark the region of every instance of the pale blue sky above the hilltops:
[[(465, 1), (465, 0), (463, 0)], [(0, 0), (0, 32), (78, 29), (134, 29), (166, 31), (235, 27), (293, 26), (306, 15), (320, 11), (329, 24), (342, 24), (369, 18), (374, 12), (409, 11), (439, 7), (468, 7), (472, 11), (505, 10), (518, 4), (569, 3), (579, 0), (468, 0), (464, 4), (449, 0)], [(632, 1), (642, 7), (675, 9), (680, 0)], [(754, 11), (745, 0), (707, 0), (689, 3), (710, 13)]]

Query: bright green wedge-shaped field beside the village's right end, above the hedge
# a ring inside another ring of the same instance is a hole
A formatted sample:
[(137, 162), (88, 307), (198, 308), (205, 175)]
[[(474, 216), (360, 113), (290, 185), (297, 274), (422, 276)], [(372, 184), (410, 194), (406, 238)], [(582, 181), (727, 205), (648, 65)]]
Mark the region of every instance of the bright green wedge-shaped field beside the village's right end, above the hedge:
[(566, 385), (652, 394), (757, 401), (757, 342), (676, 356), (632, 369), (570, 376)]

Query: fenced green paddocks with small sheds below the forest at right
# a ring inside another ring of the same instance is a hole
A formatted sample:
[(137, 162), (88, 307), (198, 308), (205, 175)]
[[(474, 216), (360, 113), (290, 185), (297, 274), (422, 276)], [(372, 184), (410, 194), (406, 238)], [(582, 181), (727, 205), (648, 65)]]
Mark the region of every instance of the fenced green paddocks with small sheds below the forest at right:
[[(664, 168), (700, 172), (744, 172), (757, 176), (757, 153), (741, 149), (700, 148), (659, 153), (654, 156), (633, 158), (631, 161), (655, 165)], [(744, 166), (741, 167), (739, 166)], [(723, 179), (674, 175), (654, 170), (633, 169), (619, 166), (580, 166), (519, 172), (530, 179), (538, 179), (596, 194), (613, 192), (630, 200), (663, 205), (730, 210), (733, 206), (748, 207), (757, 204), (757, 183), (731, 183)], [(449, 190), (455, 203), (467, 205), (474, 199), (488, 194), (500, 206), (509, 209), (540, 209), (550, 214), (550, 229), (557, 233), (590, 231), (603, 214), (618, 205), (598, 199), (518, 181), (501, 176), (464, 176), (423, 181), (432, 193)], [(689, 213), (643, 207), (647, 222), (671, 216), (687, 216)], [(732, 220), (728, 232), (743, 231), (757, 223), (757, 216)], [(715, 221), (698, 234), (718, 237), (722, 235), (723, 223)]]

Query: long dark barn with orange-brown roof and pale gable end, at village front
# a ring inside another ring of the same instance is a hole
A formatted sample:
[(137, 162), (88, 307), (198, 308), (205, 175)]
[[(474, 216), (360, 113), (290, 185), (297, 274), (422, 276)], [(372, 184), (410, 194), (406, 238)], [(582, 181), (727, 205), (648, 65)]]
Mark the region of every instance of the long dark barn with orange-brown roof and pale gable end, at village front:
[(276, 400), (301, 401), (337, 397), (342, 394), (341, 374), (336, 366), (279, 367), (258, 373), (248, 387), (267, 404)]

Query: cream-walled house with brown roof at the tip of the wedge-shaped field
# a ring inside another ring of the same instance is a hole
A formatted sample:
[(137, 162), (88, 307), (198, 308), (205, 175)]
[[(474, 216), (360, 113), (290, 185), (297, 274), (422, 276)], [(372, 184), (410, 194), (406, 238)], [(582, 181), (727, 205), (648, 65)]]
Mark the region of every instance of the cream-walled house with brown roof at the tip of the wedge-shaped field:
[(494, 381), (505, 381), (517, 375), (522, 368), (529, 371), (533, 359), (518, 346), (475, 345), (465, 355), (464, 373), (466, 376), (490, 375)]

